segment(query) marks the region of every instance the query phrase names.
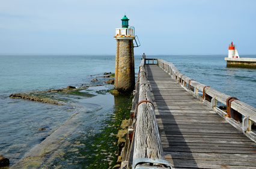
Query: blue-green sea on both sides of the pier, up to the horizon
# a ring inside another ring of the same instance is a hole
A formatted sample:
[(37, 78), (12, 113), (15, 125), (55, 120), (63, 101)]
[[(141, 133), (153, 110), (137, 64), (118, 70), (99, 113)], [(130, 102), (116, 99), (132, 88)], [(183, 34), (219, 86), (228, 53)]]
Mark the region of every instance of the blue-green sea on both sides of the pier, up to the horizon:
[[(172, 62), (187, 77), (256, 107), (256, 69), (227, 68), (225, 57), (147, 55), (147, 58)], [(256, 55), (242, 57), (256, 58)], [(136, 76), (141, 58), (135, 56)], [(36, 153), (36, 147), (47, 138), (54, 142), (65, 134), (74, 138), (81, 133), (90, 137), (88, 133), (100, 132), (103, 120), (111, 116), (115, 105), (114, 96), (99, 92), (114, 88), (104, 85), (105, 79), (100, 76), (105, 72), (115, 73), (115, 55), (0, 55), (0, 155), (9, 158), (13, 166), (24, 156)], [(91, 82), (96, 78), (97, 82)], [(9, 97), (11, 93), (67, 86), (92, 87), (85, 90), (88, 96), (82, 99), (73, 96), (69, 105), (61, 106)], [(54, 132), (57, 130), (59, 135)], [(66, 144), (69, 145), (69, 140)], [(61, 146), (52, 151), (58, 149)], [(68, 165), (72, 161), (62, 163), (64, 168)]]

